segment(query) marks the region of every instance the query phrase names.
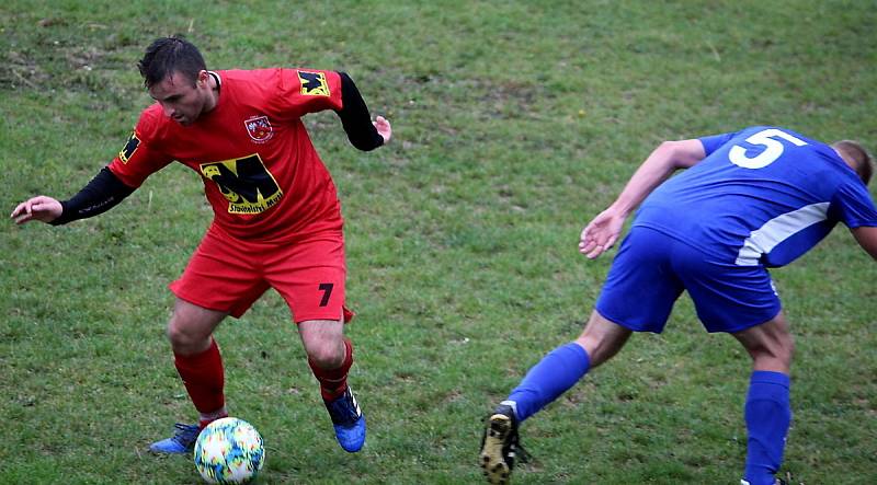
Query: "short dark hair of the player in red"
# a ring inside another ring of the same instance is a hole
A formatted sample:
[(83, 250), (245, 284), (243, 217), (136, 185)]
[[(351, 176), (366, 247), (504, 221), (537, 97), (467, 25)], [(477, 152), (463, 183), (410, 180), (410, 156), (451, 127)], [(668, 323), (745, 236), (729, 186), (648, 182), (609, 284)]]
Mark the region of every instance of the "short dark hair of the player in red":
[(173, 72), (185, 76), (194, 85), (198, 72), (207, 70), (207, 65), (197, 47), (181, 35), (173, 35), (155, 39), (137, 68), (144, 77), (144, 85), (149, 89)]

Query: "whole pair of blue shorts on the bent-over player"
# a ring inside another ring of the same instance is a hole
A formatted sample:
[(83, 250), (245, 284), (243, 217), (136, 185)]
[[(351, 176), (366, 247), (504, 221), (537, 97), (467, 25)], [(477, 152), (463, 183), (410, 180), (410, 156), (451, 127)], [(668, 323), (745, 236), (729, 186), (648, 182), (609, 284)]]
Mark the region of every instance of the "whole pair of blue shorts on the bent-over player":
[(596, 311), (631, 331), (661, 333), (683, 290), (707, 332), (740, 332), (782, 309), (763, 266), (717, 261), (662, 232), (635, 227), (612, 262)]

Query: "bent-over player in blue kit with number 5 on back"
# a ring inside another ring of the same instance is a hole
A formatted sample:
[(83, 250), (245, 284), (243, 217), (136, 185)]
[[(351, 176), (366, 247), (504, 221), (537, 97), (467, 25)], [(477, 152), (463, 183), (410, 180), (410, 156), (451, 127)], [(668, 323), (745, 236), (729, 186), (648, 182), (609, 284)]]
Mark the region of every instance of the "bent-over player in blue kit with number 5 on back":
[[(687, 170), (663, 182), (679, 169)], [(633, 332), (662, 332), (687, 290), (706, 330), (733, 335), (752, 357), (741, 483), (782, 483), (774, 475), (791, 418), (793, 338), (767, 268), (806, 253), (838, 222), (877, 259), (872, 170), (854, 141), (828, 146), (778, 127), (661, 143), (582, 231), (579, 251), (594, 258), (641, 203), (584, 331), (545, 356), (488, 418), (480, 454), (488, 480), (509, 482), (524, 419)]]

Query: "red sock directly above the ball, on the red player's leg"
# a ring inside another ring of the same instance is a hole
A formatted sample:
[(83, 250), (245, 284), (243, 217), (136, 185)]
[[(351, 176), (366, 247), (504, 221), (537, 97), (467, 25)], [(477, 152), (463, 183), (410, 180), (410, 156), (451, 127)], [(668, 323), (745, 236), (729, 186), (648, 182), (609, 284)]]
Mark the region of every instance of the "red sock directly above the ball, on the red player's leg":
[(216, 340), (212, 338), (209, 348), (201, 354), (181, 356), (174, 353), (173, 358), (195, 409), (202, 415), (214, 415), (224, 409), (225, 371)]

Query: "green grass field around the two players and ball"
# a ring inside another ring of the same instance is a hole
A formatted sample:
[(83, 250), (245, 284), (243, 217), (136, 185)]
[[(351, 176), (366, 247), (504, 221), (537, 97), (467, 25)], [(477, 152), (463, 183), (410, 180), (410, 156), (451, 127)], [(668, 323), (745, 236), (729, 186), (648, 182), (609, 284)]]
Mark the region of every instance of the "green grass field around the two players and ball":
[[(214, 68), (344, 70), (391, 145), (306, 118), (346, 218), (363, 452), (335, 444), (283, 301), (217, 339), (260, 483), (478, 483), (481, 419), (578, 335), (611, 256), (579, 232), (661, 140), (777, 124), (877, 150), (870, 1), (22, 1), (0, 4), (0, 206), (75, 194), (149, 103), (136, 61), (183, 33)], [(0, 483), (195, 484), (146, 449), (194, 417), (166, 289), (210, 210), (171, 165), (114, 210), (0, 231)], [(874, 189), (872, 189), (874, 194)], [(877, 265), (839, 228), (774, 273), (797, 336), (784, 471), (877, 483)], [(736, 484), (749, 358), (683, 299), (528, 420), (515, 483)]]

